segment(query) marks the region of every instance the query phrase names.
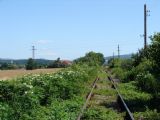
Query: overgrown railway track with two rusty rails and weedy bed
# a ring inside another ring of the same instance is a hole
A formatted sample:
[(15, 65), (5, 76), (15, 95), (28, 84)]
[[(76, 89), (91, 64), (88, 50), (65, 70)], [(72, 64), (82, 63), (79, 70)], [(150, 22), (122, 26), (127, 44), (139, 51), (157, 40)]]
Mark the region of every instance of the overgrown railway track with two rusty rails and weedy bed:
[(118, 80), (114, 81), (110, 76), (106, 79), (96, 78), (77, 120), (134, 120), (116, 82)]

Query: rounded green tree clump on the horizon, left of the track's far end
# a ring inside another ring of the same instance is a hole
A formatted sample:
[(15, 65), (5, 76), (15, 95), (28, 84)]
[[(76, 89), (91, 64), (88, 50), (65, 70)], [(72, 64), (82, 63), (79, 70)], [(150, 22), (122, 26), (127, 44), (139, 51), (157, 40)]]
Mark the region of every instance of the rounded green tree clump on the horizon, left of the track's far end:
[(79, 64), (88, 64), (89, 66), (102, 65), (105, 62), (104, 56), (101, 53), (89, 52), (84, 57), (74, 61)]

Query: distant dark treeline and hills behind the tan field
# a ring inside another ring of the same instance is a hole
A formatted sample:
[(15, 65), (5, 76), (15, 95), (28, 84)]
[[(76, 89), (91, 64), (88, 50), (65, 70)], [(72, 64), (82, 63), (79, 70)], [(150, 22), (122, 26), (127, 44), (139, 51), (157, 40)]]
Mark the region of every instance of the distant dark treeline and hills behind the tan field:
[(1, 70), (11, 70), (11, 69), (39, 69), (39, 68), (63, 68), (71, 64), (67, 60), (45, 60), (45, 59), (23, 59), (23, 60), (4, 60), (0, 59), (0, 69)]

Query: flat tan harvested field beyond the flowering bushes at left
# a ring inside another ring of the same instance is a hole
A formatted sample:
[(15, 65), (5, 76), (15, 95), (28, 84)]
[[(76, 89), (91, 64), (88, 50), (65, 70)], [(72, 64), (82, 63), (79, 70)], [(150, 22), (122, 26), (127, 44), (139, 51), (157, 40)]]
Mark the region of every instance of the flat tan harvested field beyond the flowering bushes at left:
[(43, 73), (54, 73), (61, 70), (60, 68), (53, 69), (36, 69), (36, 70), (0, 70), (0, 80), (7, 80), (16, 77), (20, 77), (26, 74), (43, 74)]

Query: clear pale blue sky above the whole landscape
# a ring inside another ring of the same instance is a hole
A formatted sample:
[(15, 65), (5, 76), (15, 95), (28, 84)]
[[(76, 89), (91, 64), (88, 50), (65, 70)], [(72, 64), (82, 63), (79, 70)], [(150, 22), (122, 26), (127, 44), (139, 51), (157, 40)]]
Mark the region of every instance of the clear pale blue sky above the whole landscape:
[(148, 36), (160, 32), (159, 0), (0, 0), (0, 58), (75, 59), (143, 47), (143, 5)]

